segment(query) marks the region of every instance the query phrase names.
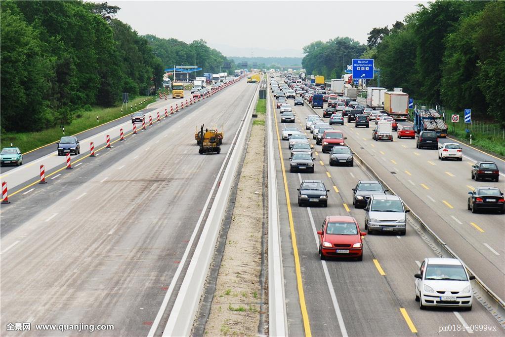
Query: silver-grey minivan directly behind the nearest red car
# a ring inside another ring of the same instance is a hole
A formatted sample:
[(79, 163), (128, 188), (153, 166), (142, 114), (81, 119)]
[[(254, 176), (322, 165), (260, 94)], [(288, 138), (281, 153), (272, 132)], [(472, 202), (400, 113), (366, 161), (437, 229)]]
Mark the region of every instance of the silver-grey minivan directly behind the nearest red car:
[(396, 195), (371, 195), (365, 210), (365, 229), (368, 234), (374, 231), (398, 232), (405, 235), (407, 230), (406, 213), (403, 202)]

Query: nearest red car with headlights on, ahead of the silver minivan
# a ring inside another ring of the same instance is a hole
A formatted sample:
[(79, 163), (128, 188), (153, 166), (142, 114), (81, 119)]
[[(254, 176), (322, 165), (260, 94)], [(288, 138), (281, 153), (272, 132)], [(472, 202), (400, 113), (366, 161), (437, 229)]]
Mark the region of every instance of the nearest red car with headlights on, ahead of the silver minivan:
[(319, 256), (353, 257), (363, 261), (363, 239), (367, 233), (360, 230), (353, 217), (329, 216), (323, 222), (319, 236)]

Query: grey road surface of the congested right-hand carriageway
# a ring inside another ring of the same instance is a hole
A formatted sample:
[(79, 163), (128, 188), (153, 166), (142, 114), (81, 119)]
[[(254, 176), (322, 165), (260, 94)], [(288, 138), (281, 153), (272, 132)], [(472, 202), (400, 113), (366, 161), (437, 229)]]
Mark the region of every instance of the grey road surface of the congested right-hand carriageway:
[[(277, 82), (282, 80), (277, 78)], [(269, 107), (273, 111), (270, 122), (275, 123), (280, 134), (284, 126), (291, 124), (280, 123), (279, 110), (272, 105), (274, 101), (269, 94)], [(288, 103), (293, 105), (292, 100)], [(305, 118), (314, 114), (314, 110), (306, 102), (305, 106), (293, 107), (293, 111), (295, 126), (305, 131)], [(322, 110), (316, 111), (322, 115)], [(374, 142), (371, 128), (355, 128), (347, 122), (334, 128), (344, 132), (351, 149), (503, 298), (503, 217), (474, 215), (466, 208), (470, 185), (499, 185), (503, 190), (502, 182), (470, 180), (468, 158), (463, 162), (441, 162), (436, 151), (416, 150), (412, 140), (395, 138), (392, 143)], [(306, 132), (312, 136), (310, 131)], [(274, 139), (278, 134), (274, 134)], [(432, 248), (436, 245), (412, 216), (408, 216), (406, 236), (365, 236), (363, 261), (321, 261), (316, 231), (324, 218), (350, 215), (358, 220), (364, 231), (364, 211), (352, 206), (351, 189), (359, 179), (375, 178), (372, 172), (358, 165), (357, 160), (354, 167), (330, 167), (329, 154), (322, 154), (312, 137), (310, 143), (314, 145), (316, 158), (313, 174), (289, 173), (287, 142), (280, 140), (271, 145), (282, 163), (277, 167), (277, 189), (280, 221), (285, 224), (281, 225), (281, 242), (289, 334), (431, 336), (470, 333), (444, 331), (444, 326), (452, 324), (490, 327), (487, 331), (472, 331), (474, 335), (503, 334), (503, 328), (476, 298), (472, 311), (419, 309), (419, 303), (414, 300), (414, 274), (419, 271), (420, 261), (437, 256), (437, 253)], [(478, 151), (470, 153), (466, 148), (463, 151), (474, 159), (491, 159)], [(330, 189), (328, 208), (298, 207), (296, 188), (303, 179), (325, 183)], [(476, 284), (474, 288), (479, 291)]]

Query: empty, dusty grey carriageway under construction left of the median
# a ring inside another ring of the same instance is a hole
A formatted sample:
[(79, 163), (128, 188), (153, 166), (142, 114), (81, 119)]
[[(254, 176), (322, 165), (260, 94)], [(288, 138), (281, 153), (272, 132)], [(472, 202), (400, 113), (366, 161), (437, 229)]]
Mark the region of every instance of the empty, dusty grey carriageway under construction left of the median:
[[(114, 324), (96, 335), (147, 335), (176, 276), (177, 294), (197, 241), (187, 260), (184, 251), (256, 88), (241, 80), (2, 205), (3, 322), (31, 322), (31, 333), (33, 324), (84, 323)], [(201, 124), (224, 126), (220, 155), (198, 154)]]

